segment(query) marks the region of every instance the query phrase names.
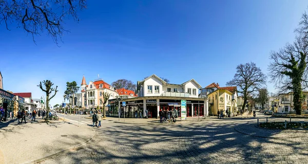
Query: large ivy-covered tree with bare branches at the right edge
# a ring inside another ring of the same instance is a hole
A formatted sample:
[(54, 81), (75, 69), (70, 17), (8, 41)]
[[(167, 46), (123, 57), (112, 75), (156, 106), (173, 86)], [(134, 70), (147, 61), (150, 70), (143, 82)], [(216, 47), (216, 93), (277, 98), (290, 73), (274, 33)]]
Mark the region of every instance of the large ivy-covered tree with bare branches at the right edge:
[(302, 15), (299, 27), (295, 29), (296, 40), (287, 43), (279, 51), (272, 51), (268, 65), (271, 82), (280, 93), (294, 92), (293, 103), (296, 114), (301, 115), (304, 96), (302, 89), (308, 87), (308, 15)]

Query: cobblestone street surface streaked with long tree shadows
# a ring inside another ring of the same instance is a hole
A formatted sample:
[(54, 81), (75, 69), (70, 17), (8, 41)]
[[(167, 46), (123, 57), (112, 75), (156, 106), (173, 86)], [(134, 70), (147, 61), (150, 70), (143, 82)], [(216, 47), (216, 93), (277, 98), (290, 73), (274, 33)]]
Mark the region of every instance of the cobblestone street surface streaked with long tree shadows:
[[(270, 119), (274, 120), (279, 119)], [(306, 132), (296, 138), (290, 138), (292, 131), (263, 130), (262, 134), (256, 122), (209, 119), (181, 124), (106, 124), (92, 143), (44, 163), (306, 163)], [(236, 131), (242, 126), (249, 128), (241, 131), (258, 130), (263, 137)], [(270, 133), (275, 138), (265, 138)]]

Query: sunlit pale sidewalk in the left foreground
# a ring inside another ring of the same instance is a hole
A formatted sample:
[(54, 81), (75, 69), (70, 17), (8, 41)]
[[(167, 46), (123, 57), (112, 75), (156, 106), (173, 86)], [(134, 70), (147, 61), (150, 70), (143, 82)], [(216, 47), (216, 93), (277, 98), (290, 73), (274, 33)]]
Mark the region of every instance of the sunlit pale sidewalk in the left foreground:
[(65, 121), (0, 123), (0, 163), (27, 163), (89, 141), (95, 134), (86, 126)]

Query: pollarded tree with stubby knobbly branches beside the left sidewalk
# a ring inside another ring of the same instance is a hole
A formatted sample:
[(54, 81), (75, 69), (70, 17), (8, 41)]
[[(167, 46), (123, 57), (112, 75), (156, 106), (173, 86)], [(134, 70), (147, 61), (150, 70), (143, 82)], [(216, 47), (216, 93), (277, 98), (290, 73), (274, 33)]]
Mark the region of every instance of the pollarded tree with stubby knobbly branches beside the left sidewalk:
[[(50, 80), (44, 80), (43, 84), (45, 85), (45, 89), (43, 88), (42, 82), (40, 82), (40, 85), (37, 85), (40, 87), (43, 92), (46, 93), (46, 113), (49, 113), (49, 101), (55, 96), (55, 94), (58, 92), (57, 86), (55, 88), (52, 87), (53, 83)], [(51, 96), (50, 94), (54, 92), (54, 94)], [(46, 117), (46, 120), (48, 120), (48, 117)]]

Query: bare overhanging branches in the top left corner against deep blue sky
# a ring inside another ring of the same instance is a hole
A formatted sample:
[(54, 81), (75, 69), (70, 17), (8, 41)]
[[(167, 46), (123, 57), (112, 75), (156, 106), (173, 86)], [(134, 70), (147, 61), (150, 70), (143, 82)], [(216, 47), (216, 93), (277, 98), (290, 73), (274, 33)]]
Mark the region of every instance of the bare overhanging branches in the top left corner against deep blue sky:
[(16, 22), (18, 28), (21, 27), (32, 35), (34, 43), (34, 35), (46, 31), (58, 44), (59, 39), (62, 41), (64, 32), (69, 32), (63, 27), (64, 17), (70, 15), (79, 22), (77, 11), (86, 7), (86, 0), (0, 0), (0, 24), (4, 22), (10, 30), (9, 24)]

